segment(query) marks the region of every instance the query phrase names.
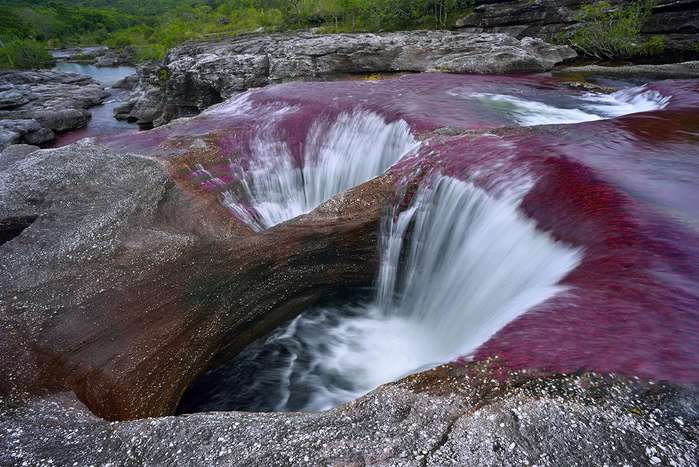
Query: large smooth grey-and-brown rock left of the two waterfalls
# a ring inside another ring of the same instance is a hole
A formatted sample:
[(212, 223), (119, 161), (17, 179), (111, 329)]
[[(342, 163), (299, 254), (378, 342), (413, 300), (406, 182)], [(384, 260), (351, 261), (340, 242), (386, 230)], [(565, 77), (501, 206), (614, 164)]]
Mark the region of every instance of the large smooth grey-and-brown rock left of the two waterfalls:
[(215, 356), (373, 280), (390, 177), (249, 236), (160, 162), (85, 144), (0, 172), (0, 221), (34, 219), (0, 246), (10, 272), (0, 277), (0, 349), (15, 362), (0, 383), (5, 403), (63, 387), (110, 420), (172, 413)]

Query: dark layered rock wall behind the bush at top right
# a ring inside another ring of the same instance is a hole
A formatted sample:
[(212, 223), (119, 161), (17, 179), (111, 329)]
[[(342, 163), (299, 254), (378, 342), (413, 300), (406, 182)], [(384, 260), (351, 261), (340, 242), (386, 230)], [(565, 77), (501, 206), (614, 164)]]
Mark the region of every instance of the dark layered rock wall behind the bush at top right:
[[(476, 0), (475, 8), (456, 21), (465, 32), (506, 33), (513, 37), (554, 40), (558, 34), (572, 34), (580, 27), (577, 15), (586, 0)], [(609, 1), (613, 10), (626, 8), (628, 0)], [(665, 37), (663, 57), (673, 61), (697, 60), (699, 2), (659, 0), (641, 30), (649, 39)]]

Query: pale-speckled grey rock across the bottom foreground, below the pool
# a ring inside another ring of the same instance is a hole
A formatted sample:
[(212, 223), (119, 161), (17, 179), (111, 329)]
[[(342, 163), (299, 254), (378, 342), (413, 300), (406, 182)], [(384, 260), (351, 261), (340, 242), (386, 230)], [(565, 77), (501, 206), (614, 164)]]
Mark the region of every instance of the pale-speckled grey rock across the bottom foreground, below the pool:
[(699, 393), (589, 373), (494, 378), (444, 365), (321, 413), (107, 423), (70, 394), (0, 415), (4, 465), (678, 465)]

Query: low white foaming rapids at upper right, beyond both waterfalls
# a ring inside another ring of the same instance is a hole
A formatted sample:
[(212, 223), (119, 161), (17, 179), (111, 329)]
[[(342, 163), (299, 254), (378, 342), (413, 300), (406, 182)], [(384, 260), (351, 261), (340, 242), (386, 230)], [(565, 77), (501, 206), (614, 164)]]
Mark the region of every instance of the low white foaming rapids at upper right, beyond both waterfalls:
[(644, 86), (623, 89), (611, 94), (587, 93), (578, 97), (577, 102), (573, 102), (574, 107), (570, 108), (555, 107), (506, 94), (475, 93), (470, 96), (521, 126), (603, 120), (662, 109), (670, 101), (669, 97), (657, 91), (648, 90)]

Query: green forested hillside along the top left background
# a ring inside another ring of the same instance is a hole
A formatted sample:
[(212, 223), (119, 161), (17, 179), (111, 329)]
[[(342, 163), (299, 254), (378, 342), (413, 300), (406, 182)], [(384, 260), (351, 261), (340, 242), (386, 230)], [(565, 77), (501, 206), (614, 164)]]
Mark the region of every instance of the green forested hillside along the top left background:
[[(0, 0), (0, 66), (41, 66), (45, 47), (132, 46), (160, 58), (202, 34), (326, 26), (332, 31), (445, 28), (473, 0)], [(44, 59), (46, 57), (43, 57)]]

